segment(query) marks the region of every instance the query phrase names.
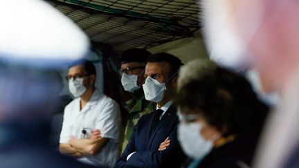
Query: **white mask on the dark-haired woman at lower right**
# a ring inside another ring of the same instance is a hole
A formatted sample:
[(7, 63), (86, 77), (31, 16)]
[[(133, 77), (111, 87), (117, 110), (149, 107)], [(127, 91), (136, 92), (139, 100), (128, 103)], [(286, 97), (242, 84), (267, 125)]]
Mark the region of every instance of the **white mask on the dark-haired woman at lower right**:
[(202, 124), (200, 122), (180, 122), (178, 139), (184, 153), (193, 159), (205, 157), (213, 147), (213, 142), (219, 136), (215, 135), (213, 140), (206, 140), (201, 136)]

